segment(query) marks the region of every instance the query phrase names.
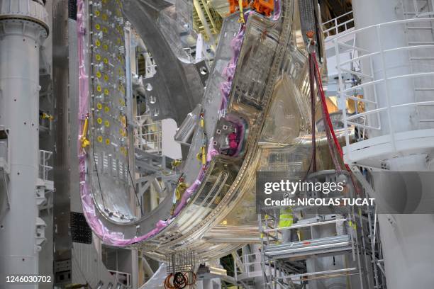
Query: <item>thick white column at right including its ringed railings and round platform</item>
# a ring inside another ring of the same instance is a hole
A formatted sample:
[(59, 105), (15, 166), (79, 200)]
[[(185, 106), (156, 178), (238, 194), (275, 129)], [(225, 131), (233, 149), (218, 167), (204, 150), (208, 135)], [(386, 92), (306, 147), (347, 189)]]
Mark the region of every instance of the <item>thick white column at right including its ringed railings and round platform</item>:
[[(422, 3), (423, 2), (423, 3)], [(414, 5), (416, 3), (416, 5)], [(434, 147), (434, 34), (430, 1), (355, 0), (352, 1), (356, 30), (355, 45), (348, 45), (338, 35), (333, 39), (339, 57), (345, 50), (357, 50), (352, 60), (337, 60), (339, 95), (354, 100), (352, 91), (362, 88), (360, 102), (365, 111), (344, 115), (345, 128), (355, 125), (365, 130), (366, 139), (354, 144), (346, 140), (345, 162), (372, 171), (375, 193), (386, 203), (410, 202), (417, 190), (407, 188), (407, 200), (396, 196), (396, 183), (415, 176), (421, 186), (419, 207), (432, 200), (433, 178), (423, 179), (432, 171), (430, 160)], [(428, 12), (420, 13), (422, 7)], [(413, 11), (411, 11), (413, 9)], [(361, 71), (352, 72), (361, 79), (344, 87), (343, 66), (360, 62)], [(345, 111), (344, 111), (345, 113)], [(380, 175), (375, 171), (401, 171), (401, 178)], [(405, 190), (404, 190), (405, 191)], [(408, 203), (407, 203), (408, 204)], [(379, 214), (380, 238), (384, 253), (387, 288), (431, 288), (434, 266), (434, 219), (430, 214)]]

